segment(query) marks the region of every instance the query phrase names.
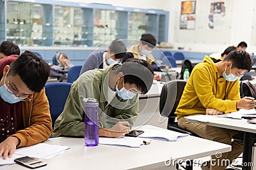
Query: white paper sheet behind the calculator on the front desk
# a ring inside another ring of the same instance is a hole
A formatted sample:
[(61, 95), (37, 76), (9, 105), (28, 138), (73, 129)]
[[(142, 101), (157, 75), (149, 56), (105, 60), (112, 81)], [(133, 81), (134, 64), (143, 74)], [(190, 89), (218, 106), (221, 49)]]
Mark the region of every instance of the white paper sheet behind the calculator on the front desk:
[(18, 155), (27, 155), (29, 157), (35, 157), (38, 159), (51, 157), (52, 155), (58, 155), (65, 150), (68, 150), (68, 146), (61, 145), (49, 145), (46, 143), (38, 143), (33, 146), (28, 146), (25, 148), (19, 148), (15, 151)]

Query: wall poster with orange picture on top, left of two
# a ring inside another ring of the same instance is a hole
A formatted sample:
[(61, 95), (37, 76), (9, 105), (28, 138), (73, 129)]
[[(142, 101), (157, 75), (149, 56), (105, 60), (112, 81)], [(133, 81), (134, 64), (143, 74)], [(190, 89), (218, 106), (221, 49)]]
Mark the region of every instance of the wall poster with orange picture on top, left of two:
[(180, 29), (195, 29), (196, 1), (182, 1), (180, 11)]

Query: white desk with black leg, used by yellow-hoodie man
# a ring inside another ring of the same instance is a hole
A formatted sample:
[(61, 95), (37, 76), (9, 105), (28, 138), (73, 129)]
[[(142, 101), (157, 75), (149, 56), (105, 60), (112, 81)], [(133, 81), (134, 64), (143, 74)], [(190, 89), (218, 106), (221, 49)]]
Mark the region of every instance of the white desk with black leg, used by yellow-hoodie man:
[[(222, 127), (226, 129), (234, 129), (244, 132), (244, 146), (243, 146), (243, 162), (252, 162), (252, 146), (254, 145), (253, 136), (256, 134), (256, 125), (248, 124), (247, 120), (230, 119), (230, 118), (217, 118), (209, 120), (204, 118), (205, 115), (190, 116), (188, 122), (196, 124), (205, 124), (215, 127)], [(214, 117), (214, 116), (212, 116)], [(247, 164), (247, 163), (246, 163)], [(243, 167), (244, 169), (251, 169), (251, 167)]]

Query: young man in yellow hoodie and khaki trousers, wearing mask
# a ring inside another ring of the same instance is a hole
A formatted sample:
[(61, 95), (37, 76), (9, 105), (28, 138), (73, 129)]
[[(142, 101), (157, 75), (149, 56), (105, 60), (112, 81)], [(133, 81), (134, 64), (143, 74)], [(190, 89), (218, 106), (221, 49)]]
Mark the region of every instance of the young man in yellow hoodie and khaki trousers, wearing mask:
[[(183, 129), (202, 138), (232, 146), (232, 151), (223, 153), (220, 162), (222, 159), (229, 159), (232, 162), (243, 152), (243, 141), (232, 141), (232, 136), (239, 132), (190, 123), (184, 117), (195, 114), (220, 115), (241, 108), (254, 108), (255, 101), (252, 97), (240, 99), (239, 94), (239, 78), (251, 68), (252, 59), (245, 51), (230, 52), (225, 59), (217, 63), (205, 56), (204, 61), (194, 67), (175, 112), (178, 124)], [(216, 157), (212, 156), (212, 159), (216, 160)], [(211, 169), (225, 169), (225, 165), (211, 166)]]

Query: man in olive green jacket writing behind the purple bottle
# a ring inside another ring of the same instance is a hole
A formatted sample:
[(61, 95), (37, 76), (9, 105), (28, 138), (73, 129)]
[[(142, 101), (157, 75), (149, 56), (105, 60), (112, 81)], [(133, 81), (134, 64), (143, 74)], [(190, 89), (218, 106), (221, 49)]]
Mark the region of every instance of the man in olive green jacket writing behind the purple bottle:
[(99, 101), (99, 136), (115, 138), (126, 134), (138, 117), (138, 94), (148, 92), (153, 78), (152, 67), (141, 59), (87, 71), (73, 83), (52, 136), (84, 136), (81, 96)]

